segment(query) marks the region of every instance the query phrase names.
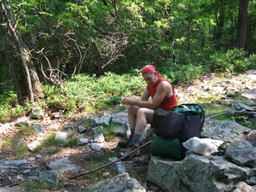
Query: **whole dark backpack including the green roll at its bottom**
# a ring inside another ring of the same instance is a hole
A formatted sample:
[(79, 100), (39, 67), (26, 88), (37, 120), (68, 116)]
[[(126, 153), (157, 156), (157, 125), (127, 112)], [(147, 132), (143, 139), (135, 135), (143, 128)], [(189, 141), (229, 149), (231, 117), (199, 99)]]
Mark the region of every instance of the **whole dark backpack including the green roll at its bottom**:
[(187, 148), (183, 143), (191, 137), (200, 137), (205, 113), (198, 104), (182, 104), (175, 107), (154, 130), (150, 151), (160, 157), (183, 160)]

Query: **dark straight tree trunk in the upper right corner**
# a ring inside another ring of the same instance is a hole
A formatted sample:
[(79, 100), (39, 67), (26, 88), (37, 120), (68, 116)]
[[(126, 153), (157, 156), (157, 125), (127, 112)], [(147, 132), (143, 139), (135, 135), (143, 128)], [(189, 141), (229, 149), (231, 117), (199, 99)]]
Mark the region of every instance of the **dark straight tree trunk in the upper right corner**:
[(249, 0), (239, 1), (236, 47), (244, 49), (247, 40), (247, 11)]

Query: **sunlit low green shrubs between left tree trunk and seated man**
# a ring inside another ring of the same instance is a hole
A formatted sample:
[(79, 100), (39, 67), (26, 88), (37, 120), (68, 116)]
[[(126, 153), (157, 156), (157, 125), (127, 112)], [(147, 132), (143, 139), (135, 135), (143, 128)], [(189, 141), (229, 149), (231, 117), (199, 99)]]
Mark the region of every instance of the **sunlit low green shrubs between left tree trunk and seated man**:
[(122, 96), (142, 94), (144, 82), (141, 76), (106, 73), (96, 78), (79, 74), (62, 88), (45, 86), (46, 102), (69, 113), (90, 112), (98, 108), (109, 108), (120, 103)]

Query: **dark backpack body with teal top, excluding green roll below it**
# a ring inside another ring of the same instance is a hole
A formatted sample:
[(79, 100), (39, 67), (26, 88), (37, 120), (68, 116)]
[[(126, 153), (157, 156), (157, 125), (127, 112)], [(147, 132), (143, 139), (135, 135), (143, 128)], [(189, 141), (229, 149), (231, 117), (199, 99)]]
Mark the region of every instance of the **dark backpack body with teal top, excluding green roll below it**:
[(181, 104), (166, 115), (154, 133), (164, 138), (178, 138), (183, 143), (201, 136), (204, 121), (205, 113), (199, 104)]

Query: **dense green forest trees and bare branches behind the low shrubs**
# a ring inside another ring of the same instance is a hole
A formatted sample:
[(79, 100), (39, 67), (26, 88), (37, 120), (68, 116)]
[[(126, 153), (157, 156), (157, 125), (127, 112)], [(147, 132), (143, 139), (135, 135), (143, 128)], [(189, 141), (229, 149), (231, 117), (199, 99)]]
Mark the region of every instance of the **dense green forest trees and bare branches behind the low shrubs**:
[(39, 79), (57, 85), (78, 73), (121, 74), (145, 64), (165, 72), (187, 65), (215, 70), (218, 53), (255, 52), (255, 0), (1, 2)]

